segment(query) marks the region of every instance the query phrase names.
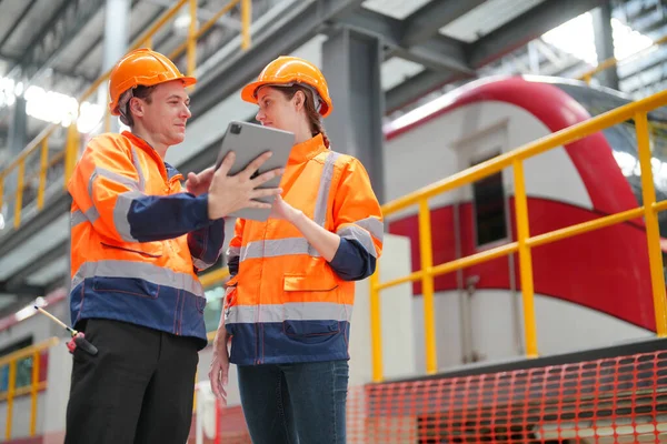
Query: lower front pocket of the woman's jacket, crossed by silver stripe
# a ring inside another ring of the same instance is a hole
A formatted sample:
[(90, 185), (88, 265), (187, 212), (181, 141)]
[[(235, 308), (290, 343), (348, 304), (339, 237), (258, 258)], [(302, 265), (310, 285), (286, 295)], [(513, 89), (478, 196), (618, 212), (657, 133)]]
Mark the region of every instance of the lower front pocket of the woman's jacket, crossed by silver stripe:
[[(308, 337), (318, 342), (340, 332), (340, 322), (322, 306), (336, 306), (338, 282), (330, 274), (309, 276), (285, 275), (282, 290), (282, 331), (288, 336)], [(334, 310), (332, 314), (337, 311)]]

